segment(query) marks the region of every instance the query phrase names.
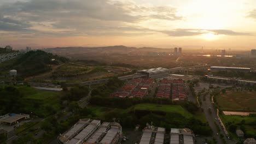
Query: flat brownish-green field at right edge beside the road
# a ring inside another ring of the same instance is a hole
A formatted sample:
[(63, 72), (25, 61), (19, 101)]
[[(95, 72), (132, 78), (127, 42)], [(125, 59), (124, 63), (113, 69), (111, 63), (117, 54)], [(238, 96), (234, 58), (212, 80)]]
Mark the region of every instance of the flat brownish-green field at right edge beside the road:
[(256, 92), (228, 92), (216, 97), (220, 110), (256, 111)]

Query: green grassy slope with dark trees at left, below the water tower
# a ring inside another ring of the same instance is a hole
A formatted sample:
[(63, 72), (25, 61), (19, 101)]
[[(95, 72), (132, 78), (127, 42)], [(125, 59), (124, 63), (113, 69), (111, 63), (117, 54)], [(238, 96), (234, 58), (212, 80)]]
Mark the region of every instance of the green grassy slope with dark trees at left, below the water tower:
[(48, 116), (60, 110), (62, 92), (42, 91), (27, 86), (0, 87), (0, 113), (31, 113)]

